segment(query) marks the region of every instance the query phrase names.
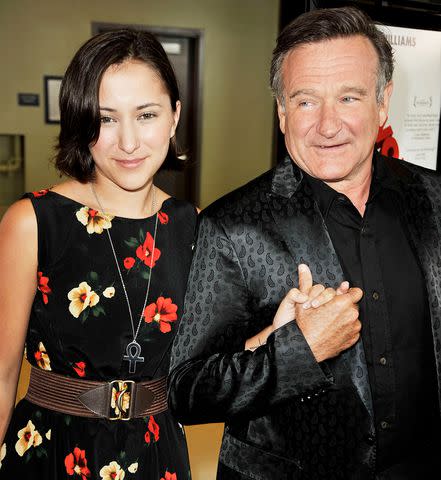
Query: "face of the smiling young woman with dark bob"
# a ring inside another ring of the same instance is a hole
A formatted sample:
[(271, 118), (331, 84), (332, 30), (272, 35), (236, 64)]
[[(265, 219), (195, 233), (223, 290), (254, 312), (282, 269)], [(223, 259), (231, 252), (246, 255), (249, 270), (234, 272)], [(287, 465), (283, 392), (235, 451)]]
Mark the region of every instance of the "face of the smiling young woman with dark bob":
[(179, 121), (159, 75), (146, 63), (128, 60), (110, 66), (99, 89), (101, 128), (90, 146), (96, 181), (127, 191), (149, 185), (164, 161)]

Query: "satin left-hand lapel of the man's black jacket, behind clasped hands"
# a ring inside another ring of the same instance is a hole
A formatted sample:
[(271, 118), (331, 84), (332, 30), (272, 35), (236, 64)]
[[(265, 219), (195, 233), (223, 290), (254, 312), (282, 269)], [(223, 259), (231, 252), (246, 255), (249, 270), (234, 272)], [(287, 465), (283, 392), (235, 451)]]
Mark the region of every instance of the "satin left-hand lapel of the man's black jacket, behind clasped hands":
[[(276, 228), (294, 264), (308, 265), (315, 283), (337, 287), (344, 280), (340, 262), (312, 192), (289, 157), (275, 169), (268, 200)], [(367, 411), (373, 416), (361, 339), (328, 363), (336, 378), (344, 381), (349, 377)]]

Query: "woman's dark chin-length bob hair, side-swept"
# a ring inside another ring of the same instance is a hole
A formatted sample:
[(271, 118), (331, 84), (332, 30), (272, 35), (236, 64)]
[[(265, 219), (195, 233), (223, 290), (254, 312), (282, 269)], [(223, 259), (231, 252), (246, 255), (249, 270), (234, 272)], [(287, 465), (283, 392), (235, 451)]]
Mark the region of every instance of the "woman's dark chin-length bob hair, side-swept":
[[(148, 33), (116, 30), (95, 35), (75, 54), (60, 90), (60, 134), (55, 166), (60, 173), (85, 183), (94, 178), (95, 163), (89, 151), (100, 134), (99, 88), (104, 72), (126, 60), (145, 62), (162, 79), (176, 111), (179, 89), (162, 45)], [(170, 140), (161, 168), (180, 169), (175, 138)]]

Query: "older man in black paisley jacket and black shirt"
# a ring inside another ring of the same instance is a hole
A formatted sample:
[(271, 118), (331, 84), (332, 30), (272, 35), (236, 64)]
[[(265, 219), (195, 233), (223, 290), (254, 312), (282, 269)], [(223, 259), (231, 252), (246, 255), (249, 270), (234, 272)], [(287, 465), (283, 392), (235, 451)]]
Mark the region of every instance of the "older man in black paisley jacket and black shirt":
[[(289, 157), (201, 216), (170, 405), (226, 423), (219, 479), (441, 476), (441, 182), (374, 151), (392, 71), (360, 11), (294, 20), (271, 67)], [(299, 263), (364, 291), (358, 341), (345, 295), (268, 330)]]

